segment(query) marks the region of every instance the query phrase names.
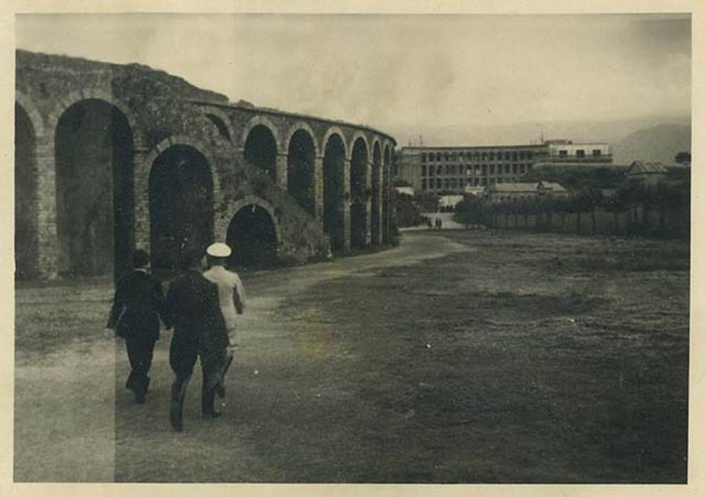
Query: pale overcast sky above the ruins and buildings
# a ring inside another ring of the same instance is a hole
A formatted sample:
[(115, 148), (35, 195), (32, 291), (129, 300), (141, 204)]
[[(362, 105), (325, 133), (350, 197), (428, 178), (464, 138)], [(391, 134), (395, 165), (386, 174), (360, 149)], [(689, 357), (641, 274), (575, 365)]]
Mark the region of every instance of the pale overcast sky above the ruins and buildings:
[(687, 15), (32, 15), (16, 33), (381, 130), (690, 114)]

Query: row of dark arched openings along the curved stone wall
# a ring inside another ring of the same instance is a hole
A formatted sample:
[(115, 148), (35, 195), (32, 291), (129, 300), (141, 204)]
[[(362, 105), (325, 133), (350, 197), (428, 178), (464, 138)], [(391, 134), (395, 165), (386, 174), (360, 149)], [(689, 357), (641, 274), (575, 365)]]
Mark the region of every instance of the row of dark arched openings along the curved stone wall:
[[(219, 133), (232, 130), (211, 121)], [(59, 274), (116, 275), (128, 267), (135, 240), (135, 164), (133, 120), (124, 109), (102, 98), (79, 99), (56, 118), (53, 145), (56, 188), (56, 265)], [(16, 275), (35, 276), (38, 270), (37, 238), (40, 176), (37, 167), (37, 128), (25, 106), (16, 103)], [(43, 130), (39, 130), (40, 134)], [(252, 126), (245, 138), (246, 161), (277, 176), (277, 144), (266, 125)], [(342, 133), (326, 137), (323, 161), (324, 229), (333, 248), (344, 240), (346, 147)], [(317, 147), (311, 133), (295, 130), (288, 140), (286, 185), (290, 195), (312, 216), (316, 215)], [(375, 142), (375, 166), (381, 166), (381, 148)], [(353, 245), (364, 245), (366, 223), (372, 223), (372, 240), (379, 243), (379, 216), (369, 219), (364, 204), (367, 190), (367, 143), (358, 138), (350, 161), (350, 228)], [(209, 159), (195, 146), (173, 143), (149, 161), (149, 243), (153, 264), (171, 269), (186, 250), (202, 250), (214, 240), (216, 191)], [(381, 167), (372, 176), (381, 178)], [(372, 185), (372, 211), (382, 200), (379, 181)], [(379, 196), (379, 195), (378, 195)], [(381, 212), (380, 212), (381, 214)], [(232, 245), (233, 264), (271, 262), (278, 243), (276, 219), (262, 202), (242, 206), (233, 213), (224, 237)]]

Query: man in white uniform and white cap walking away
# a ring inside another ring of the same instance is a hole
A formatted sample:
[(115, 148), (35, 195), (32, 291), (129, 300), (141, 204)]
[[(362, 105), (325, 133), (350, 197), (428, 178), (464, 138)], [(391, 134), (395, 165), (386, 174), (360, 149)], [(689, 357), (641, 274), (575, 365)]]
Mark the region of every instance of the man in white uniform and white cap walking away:
[(223, 313), (226, 330), (228, 331), (228, 348), (226, 351), (226, 363), (223, 367), (219, 378), (219, 384), (216, 386), (216, 393), (225, 396), (225, 374), (233, 362), (233, 354), (237, 348), (237, 338), (235, 331), (235, 319), (238, 314), (245, 312), (245, 287), (240, 281), (240, 276), (233, 271), (228, 271), (225, 265), (228, 257), (233, 251), (225, 243), (214, 243), (206, 250), (208, 269), (203, 276), (207, 280), (216, 283), (218, 286), (218, 296), (220, 300), (220, 308)]

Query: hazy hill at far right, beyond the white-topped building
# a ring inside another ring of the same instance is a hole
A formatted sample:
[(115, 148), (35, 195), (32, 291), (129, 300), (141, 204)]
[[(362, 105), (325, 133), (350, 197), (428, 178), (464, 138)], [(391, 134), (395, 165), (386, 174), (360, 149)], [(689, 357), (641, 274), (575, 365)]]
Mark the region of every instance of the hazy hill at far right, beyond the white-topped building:
[(630, 133), (613, 143), (614, 164), (632, 161), (675, 164), (675, 154), (690, 151), (690, 126), (661, 124)]

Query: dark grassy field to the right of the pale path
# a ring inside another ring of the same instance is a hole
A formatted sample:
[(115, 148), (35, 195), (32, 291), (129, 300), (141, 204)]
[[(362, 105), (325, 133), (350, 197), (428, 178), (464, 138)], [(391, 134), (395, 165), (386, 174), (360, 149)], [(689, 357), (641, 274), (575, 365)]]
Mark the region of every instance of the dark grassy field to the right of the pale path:
[(355, 358), (328, 371), (348, 395), (317, 416), (321, 467), (353, 481), (685, 481), (687, 245), (445, 236), (472, 251), (287, 303), (316, 309)]

